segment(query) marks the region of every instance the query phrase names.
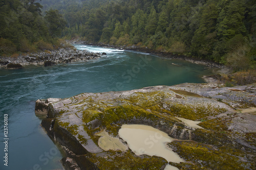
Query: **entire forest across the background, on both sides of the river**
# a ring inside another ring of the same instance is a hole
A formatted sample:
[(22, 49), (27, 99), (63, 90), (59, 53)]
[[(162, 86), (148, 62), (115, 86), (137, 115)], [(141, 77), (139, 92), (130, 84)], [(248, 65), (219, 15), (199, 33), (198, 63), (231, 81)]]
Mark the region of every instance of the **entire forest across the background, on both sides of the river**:
[(255, 69), (255, 0), (1, 0), (0, 15), (0, 53), (80, 38)]

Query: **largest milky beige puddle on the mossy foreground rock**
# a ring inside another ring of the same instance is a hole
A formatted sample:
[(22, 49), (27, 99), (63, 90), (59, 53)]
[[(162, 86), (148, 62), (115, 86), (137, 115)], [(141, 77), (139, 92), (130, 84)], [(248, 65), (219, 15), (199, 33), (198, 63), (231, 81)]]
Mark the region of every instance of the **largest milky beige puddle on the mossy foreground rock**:
[[(168, 148), (166, 143), (175, 140), (166, 133), (146, 125), (122, 125), (118, 132), (119, 136), (125, 140), (129, 148), (136, 155), (159, 156), (168, 162), (184, 162), (178, 154)], [(178, 169), (168, 165), (166, 169)]]

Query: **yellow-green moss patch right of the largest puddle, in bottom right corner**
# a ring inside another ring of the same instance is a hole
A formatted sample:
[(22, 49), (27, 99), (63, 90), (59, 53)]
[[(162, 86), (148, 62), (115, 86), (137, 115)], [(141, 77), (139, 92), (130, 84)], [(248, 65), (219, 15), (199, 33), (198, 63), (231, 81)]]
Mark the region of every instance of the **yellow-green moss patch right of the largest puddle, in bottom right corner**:
[(247, 154), (234, 148), (213, 147), (195, 141), (174, 141), (169, 143), (169, 146), (185, 161), (191, 161), (201, 167), (216, 170), (244, 170), (253, 167), (252, 162), (247, 159)]

